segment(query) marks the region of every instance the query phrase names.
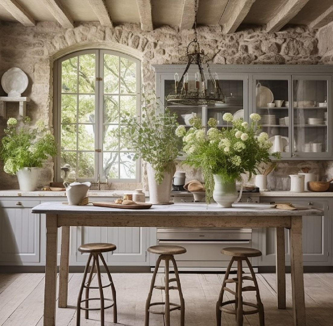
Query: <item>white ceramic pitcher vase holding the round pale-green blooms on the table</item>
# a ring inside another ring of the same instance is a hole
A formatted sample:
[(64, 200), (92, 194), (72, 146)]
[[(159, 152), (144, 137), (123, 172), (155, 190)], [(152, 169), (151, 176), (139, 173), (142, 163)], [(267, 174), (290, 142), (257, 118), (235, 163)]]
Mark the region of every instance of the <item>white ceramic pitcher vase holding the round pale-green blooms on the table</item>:
[(218, 203), (219, 207), (231, 207), (231, 204), (238, 197), (238, 193), (236, 190), (236, 180), (233, 180), (232, 182), (227, 182), (219, 174), (213, 174), (213, 178), (215, 182), (213, 199)]

